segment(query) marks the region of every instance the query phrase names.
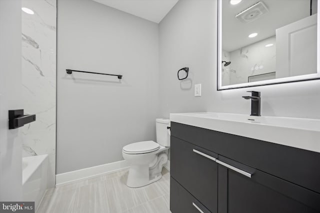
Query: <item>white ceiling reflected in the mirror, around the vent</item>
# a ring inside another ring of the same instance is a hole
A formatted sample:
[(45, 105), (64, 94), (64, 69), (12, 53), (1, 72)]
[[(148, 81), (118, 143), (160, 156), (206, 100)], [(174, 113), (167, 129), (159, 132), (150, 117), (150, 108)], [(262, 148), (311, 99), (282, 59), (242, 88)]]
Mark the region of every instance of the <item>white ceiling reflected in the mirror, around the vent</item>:
[[(262, 0), (269, 12), (258, 19), (243, 23), (235, 15), (259, 0), (242, 0), (231, 5), (228, 0), (222, 0), (222, 49), (233, 51), (257, 41), (275, 35), (275, 29), (302, 19), (309, 15), (309, 0)], [(256, 32), (258, 35), (249, 38)]]

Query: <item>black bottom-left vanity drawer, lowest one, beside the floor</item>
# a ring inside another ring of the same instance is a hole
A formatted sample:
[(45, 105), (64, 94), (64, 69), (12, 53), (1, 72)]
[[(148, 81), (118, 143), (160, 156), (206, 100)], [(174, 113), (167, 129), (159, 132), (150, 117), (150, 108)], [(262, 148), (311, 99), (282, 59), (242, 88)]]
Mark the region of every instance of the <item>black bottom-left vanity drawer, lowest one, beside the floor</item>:
[(211, 213), (172, 177), (170, 178), (170, 211), (171, 213)]

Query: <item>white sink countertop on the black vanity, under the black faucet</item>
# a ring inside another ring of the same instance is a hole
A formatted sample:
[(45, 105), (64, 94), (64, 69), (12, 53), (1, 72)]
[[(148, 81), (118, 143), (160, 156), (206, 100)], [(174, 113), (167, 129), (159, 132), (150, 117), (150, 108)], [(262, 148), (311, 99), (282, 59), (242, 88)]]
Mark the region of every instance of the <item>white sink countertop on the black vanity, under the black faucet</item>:
[(170, 121), (320, 153), (320, 120), (231, 113), (171, 113)]

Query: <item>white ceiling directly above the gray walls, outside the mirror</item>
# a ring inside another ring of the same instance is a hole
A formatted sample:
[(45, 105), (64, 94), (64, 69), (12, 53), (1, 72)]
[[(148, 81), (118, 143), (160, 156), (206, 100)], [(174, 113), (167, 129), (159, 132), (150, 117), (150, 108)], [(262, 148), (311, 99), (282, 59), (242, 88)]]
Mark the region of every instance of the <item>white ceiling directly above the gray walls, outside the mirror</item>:
[(123, 12), (159, 23), (178, 0), (94, 0)]

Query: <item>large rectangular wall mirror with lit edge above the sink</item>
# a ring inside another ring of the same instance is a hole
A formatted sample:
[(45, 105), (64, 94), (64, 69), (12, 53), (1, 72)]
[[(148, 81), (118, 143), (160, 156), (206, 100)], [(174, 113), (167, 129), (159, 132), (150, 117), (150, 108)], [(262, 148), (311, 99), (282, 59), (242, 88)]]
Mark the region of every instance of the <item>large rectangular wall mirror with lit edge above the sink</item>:
[(317, 0), (218, 0), (218, 90), (320, 78)]

